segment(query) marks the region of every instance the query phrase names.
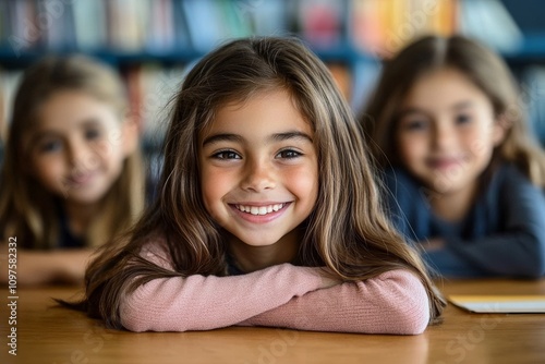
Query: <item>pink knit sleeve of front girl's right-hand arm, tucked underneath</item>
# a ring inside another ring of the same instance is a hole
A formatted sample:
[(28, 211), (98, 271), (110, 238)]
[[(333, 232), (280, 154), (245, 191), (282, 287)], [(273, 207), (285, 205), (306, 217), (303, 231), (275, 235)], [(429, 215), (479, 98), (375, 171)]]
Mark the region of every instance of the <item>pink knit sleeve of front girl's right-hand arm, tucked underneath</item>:
[(422, 282), (409, 271), (392, 270), (306, 293), (242, 325), (417, 335), (428, 321), (429, 301)]

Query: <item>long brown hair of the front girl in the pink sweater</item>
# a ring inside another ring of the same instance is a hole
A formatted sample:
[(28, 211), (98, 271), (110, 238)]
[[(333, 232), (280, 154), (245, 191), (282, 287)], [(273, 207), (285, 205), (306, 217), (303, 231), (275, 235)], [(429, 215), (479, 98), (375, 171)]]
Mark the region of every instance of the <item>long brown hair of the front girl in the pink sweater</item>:
[[(160, 193), (132, 233), (108, 244), (86, 272), (81, 305), (107, 326), (121, 328), (123, 294), (155, 278), (227, 275), (226, 240), (204, 207), (198, 179), (197, 138), (218, 109), (255, 93), (288, 90), (314, 130), (319, 192), (305, 222), (298, 262), (327, 266), (343, 280), (376, 277), (391, 269), (413, 271), (425, 286), (431, 317), (444, 301), (417, 254), (388, 222), (360, 126), (326, 66), (291, 38), (233, 40), (202, 59), (173, 99), (164, 146)], [(165, 241), (175, 271), (140, 257), (152, 240)]]

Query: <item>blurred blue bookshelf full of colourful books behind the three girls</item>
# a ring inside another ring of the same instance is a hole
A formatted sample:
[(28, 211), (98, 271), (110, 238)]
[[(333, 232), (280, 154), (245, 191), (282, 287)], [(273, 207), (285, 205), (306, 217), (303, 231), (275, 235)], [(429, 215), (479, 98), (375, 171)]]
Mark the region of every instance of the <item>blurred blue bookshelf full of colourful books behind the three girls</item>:
[(544, 8), (542, 0), (0, 0), (0, 144), (21, 74), (45, 54), (84, 53), (119, 70), (153, 161), (184, 73), (227, 39), (304, 39), (360, 112), (383, 62), (427, 33), (464, 34), (498, 51), (545, 143)]

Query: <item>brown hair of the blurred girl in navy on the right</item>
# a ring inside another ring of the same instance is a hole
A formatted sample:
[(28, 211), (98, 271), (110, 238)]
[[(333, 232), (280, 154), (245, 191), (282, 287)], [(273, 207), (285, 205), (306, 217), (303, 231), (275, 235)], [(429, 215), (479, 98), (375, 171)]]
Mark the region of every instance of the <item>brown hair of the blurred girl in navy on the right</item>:
[(382, 167), (398, 162), (395, 130), (400, 107), (412, 86), (425, 74), (453, 69), (464, 74), (491, 100), (506, 130), (494, 159), (516, 163), (537, 186), (545, 186), (545, 154), (528, 131), (521, 93), (507, 64), (471, 38), (425, 36), (385, 62), (378, 85), (361, 122)]

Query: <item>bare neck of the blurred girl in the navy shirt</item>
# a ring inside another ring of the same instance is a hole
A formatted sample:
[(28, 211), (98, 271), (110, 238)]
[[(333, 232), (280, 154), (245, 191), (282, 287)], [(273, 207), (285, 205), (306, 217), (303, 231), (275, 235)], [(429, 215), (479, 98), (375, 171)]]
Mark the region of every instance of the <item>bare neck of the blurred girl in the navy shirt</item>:
[(436, 216), (445, 221), (460, 221), (471, 209), (477, 192), (477, 183), (460, 191), (435, 194), (429, 197), (429, 204)]

